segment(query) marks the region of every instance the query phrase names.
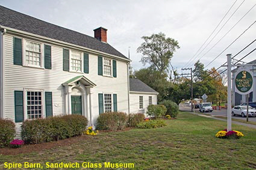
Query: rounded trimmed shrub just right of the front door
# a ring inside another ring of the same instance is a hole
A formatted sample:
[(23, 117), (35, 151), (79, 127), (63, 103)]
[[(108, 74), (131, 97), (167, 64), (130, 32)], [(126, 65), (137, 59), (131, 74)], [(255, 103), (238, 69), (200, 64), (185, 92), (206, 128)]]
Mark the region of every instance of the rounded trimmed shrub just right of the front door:
[(100, 114), (97, 119), (99, 130), (123, 130), (126, 127), (128, 116), (123, 112), (107, 112)]

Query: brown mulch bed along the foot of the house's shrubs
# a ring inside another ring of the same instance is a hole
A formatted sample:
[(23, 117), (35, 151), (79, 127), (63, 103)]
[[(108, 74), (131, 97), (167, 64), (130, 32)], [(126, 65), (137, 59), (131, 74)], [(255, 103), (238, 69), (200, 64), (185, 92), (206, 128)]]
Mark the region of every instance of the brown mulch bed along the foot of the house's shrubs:
[[(117, 130), (117, 131), (101, 130), (101, 131), (99, 131), (99, 134), (106, 133), (106, 132), (123, 132), (123, 131), (131, 130), (131, 129), (133, 129), (133, 128), (127, 127), (124, 130)], [(51, 148), (72, 145), (81, 140), (88, 140), (88, 139), (89, 139), (88, 135), (82, 135), (82, 136), (76, 136), (73, 138), (63, 139), (60, 141), (52, 141), (52, 142), (46, 142), (46, 143), (42, 143), (42, 144), (23, 145), (20, 148), (9, 148), (9, 147), (0, 148), (0, 154), (17, 155), (17, 154), (27, 154), (27, 153), (39, 152), (39, 151), (43, 151), (43, 150), (49, 150)]]

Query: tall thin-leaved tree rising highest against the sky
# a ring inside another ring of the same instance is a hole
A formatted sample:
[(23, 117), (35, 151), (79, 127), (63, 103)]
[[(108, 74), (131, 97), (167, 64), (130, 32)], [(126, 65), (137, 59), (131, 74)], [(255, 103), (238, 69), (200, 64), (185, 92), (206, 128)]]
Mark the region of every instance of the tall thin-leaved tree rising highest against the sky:
[(143, 36), (144, 43), (140, 44), (137, 52), (143, 54), (141, 62), (149, 64), (150, 67), (160, 73), (164, 73), (169, 67), (173, 52), (179, 49), (178, 41), (173, 38), (166, 38), (162, 32), (152, 34), (150, 37)]

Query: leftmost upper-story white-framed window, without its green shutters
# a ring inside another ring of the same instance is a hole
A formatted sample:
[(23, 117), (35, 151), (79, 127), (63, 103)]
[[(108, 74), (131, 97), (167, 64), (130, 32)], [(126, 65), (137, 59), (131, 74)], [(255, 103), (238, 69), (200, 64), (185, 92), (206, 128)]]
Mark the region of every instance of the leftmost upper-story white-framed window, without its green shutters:
[(42, 67), (43, 58), (42, 58), (42, 43), (35, 41), (24, 40), (25, 46), (25, 65), (33, 67)]

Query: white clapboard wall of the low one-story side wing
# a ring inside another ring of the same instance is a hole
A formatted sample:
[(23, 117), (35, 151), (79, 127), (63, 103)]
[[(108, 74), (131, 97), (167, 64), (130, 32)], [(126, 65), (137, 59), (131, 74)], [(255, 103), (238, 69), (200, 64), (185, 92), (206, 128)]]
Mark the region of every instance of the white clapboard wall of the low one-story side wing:
[[(149, 96), (152, 96), (152, 105), (157, 105), (157, 94), (139, 94), (140, 92), (130, 93), (130, 112), (133, 114), (143, 113), (146, 115), (146, 109), (149, 105)], [(140, 96), (143, 96), (143, 109), (140, 109)]]

